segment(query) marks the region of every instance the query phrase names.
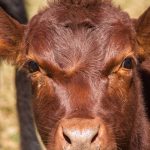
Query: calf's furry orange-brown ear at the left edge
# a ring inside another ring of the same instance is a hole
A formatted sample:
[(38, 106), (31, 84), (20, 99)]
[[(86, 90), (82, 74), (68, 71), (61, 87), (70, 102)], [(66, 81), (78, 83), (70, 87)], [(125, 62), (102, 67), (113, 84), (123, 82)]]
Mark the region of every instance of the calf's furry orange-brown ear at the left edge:
[(0, 8), (0, 60), (15, 63), (21, 52), (25, 26)]

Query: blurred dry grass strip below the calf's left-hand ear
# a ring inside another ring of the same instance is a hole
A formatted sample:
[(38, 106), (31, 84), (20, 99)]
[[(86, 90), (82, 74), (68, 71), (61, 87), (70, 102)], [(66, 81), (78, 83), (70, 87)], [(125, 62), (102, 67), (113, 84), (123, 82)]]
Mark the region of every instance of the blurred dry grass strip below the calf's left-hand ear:
[(14, 68), (0, 66), (0, 149), (19, 149), (18, 122), (15, 109)]

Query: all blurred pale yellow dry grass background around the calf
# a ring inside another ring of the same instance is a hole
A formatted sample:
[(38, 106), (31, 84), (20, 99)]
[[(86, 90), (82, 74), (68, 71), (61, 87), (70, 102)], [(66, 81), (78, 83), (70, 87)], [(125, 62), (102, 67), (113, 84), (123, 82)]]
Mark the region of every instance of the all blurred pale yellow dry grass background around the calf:
[[(24, 2), (28, 19), (47, 5), (47, 0), (24, 0)], [(133, 18), (137, 18), (150, 6), (150, 0), (113, 0), (113, 3), (119, 5)], [(19, 150), (14, 78), (14, 67), (2, 62), (0, 64), (0, 150)]]

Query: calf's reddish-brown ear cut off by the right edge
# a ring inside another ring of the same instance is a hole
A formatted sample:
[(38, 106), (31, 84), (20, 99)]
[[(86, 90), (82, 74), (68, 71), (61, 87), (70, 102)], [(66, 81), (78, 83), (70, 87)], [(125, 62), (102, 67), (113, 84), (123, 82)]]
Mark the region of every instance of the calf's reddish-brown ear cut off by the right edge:
[(136, 21), (137, 40), (144, 49), (144, 56), (150, 58), (150, 7)]

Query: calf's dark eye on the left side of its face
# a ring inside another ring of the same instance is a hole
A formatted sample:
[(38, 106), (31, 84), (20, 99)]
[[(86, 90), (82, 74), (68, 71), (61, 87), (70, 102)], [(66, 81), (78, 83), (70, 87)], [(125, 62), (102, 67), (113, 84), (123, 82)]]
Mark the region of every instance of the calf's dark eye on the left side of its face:
[(32, 61), (32, 60), (27, 62), (27, 67), (30, 73), (34, 73), (40, 70), (39, 65), (35, 61)]

